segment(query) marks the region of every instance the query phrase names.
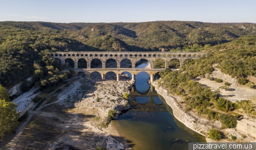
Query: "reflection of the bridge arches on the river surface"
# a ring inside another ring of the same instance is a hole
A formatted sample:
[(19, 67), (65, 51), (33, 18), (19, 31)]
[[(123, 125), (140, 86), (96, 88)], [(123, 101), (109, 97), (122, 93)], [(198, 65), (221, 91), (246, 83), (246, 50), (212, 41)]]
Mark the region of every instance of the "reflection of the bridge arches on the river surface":
[(152, 85), (146, 93), (139, 92), (133, 87), (130, 96), (129, 111), (168, 111)]

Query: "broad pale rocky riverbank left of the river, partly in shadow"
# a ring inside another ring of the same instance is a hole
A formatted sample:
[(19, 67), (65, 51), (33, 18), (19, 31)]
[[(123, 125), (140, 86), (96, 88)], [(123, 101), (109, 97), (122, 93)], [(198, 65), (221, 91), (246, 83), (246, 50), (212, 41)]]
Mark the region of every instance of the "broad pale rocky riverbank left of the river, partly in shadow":
[(30, 110), (30, 117), (24, 120), (29, 122), (28, 125), (1, 148), (96, 149), (100, 146), (123, 149), (124, 145), (116, 139), (123, 143), (126, 140), (120, 137), (112, 123), (106, 129), (102, 129), (100, 124), (108, 115), (108, 110), (115, 109), (119, 113), (130, 108), (122, 95), (129, 92), (132, 84), (132, 81), (74, 81), (52, 94), (36, 111)]

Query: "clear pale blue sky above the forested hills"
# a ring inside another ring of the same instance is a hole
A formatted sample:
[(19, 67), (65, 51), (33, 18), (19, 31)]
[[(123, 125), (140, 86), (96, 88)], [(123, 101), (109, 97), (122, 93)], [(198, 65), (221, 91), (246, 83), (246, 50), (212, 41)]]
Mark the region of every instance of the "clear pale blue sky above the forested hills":
[(0, 21), (256, 23), (255, 0), (0, 0)]

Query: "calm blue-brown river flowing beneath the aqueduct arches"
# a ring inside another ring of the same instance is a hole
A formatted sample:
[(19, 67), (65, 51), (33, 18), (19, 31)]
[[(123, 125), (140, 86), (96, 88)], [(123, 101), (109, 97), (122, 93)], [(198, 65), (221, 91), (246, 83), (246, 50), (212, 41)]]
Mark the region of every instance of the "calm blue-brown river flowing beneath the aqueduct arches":
[[(136, 68), (147, 66), (142, 62)], [(129, 74), (129, 73), (127, 73)], [(173, 110), (166, 105), (147, 83), (150, 76), (140, 72), (131, 91), (131, 109), (113, 120), (119, 134), (127, 139), (132, 149), (188, 149), (189, 142), (205, 142), (205, 138), (186, 128), (173, 116)]]

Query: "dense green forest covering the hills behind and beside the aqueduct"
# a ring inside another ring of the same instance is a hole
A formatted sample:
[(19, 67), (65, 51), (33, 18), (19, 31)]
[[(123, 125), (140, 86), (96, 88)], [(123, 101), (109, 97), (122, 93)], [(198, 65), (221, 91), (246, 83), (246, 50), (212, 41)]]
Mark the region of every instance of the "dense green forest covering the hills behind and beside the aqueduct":
[[(11, 87), (31, 77), (38, 68), (43, 71), (47, 80), (54, 75), (59, 76), (61, 68), (48, 56), (55, 51), (206, 51), (209, 56), (218, 55), (217, 57), (224, 57), (224, 53), (229, 53), (228, 58), (225, 56), (226, 59), (220, 59), (222, 61), (218, 67), (221, 67), (223, 72), (231, 72), (239, 67), (242, 71), (240, 69), (233, 71), (232, 76), (244, 77), (247, 74), (253, 76), (255, 65), (251, 64), (251, 61), (254, 59), (255, 41), (254, 36), (246, 37), (246, 35), (255, 34), (253, 23), (5, 21), (0, 22), (0, 84), (7, 88)], [(240, 37), (247, 38), (244, 44), (250, 48), (250, 52), (243, 50), (244, 52), (240, 53), (244, 47), (237, 47), (236, 43), (233, 43), (233, 47), (228, 44)], [(249, 38), (252, 41), (248, 41)], [(210, 50), (212, 48), (213, 52)], [(225, 50), (218, 51), (217, 49)], [(239, 53), (233, 49), (238, 49)], [(240, 56), (245, 60), (237, 61)], [(205, 63), (207, 66), (200, 65), (203, 70), (191, 69), (188, 72), (195, 77), (211, 71), (210, 65), (218, 62), (214, 59), (208, 60), (208, 58), (210, 57), (200, 60), (207, 61)], [(197, 62), (192, 65), (197, 66)], [(48, 68), (54, 66), (54, 68), (48, 69), (47, 66)]]

